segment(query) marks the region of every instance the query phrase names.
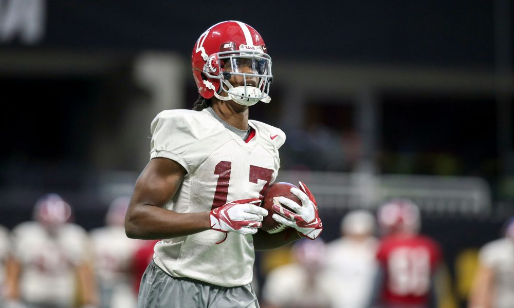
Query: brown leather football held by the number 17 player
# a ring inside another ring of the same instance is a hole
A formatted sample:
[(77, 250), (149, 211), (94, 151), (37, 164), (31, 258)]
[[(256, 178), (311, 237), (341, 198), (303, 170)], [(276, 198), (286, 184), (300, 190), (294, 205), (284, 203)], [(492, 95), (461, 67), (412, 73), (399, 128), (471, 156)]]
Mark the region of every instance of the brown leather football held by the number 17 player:
[[(296, 195), (293, 195), (292, 192), (289, 191), (292, 187), (298, 188), (298, 186), (291, 183), (278, 182), (269, 185), (268, 188), (264, 191), (264, 199), (261, 202), (261, 206), (268, 210), (268, 216), (264, 217), (261, 227), (262, 230), (266, 231), (267, 233), (279, 233), (284, 229), (289, 228), (288, 226), (275, 221), (272, 216), (274, 213), (273, 203), (276, 202), (279, 204), (279, 197), (291, 199), (292, 201), (302, 205), (302, 201), (300, 201)], [(281, 205), (285, 208), (288, 208), (283, 204)]]

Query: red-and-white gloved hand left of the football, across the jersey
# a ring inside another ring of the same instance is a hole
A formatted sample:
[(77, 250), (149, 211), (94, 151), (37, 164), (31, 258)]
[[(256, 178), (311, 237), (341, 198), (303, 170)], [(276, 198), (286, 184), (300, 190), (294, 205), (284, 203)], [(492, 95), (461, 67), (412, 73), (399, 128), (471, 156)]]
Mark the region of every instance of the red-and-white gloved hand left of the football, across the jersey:
[(262, 226), (268, 211), (258, 204), (259, 199), (243, 199), (227, 203), (211, 210), (211, 229), (219, 232), (255, 234)]

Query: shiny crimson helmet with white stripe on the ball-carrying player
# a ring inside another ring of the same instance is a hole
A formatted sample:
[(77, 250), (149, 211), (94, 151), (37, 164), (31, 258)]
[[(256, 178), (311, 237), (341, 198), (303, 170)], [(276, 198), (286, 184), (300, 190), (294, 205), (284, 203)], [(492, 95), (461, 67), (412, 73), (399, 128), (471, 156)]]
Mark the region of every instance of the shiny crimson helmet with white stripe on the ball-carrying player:
[[(242, 22), (215, 24), (200, 35), (193, 47), (191, 63), (200, 95), (251, 106), (269, 103), (272, 81), (271, 57), (259, 32)], [(232, 76), (241, 76), (235, 87)], [(222, 96), (226, 92), (227, 96)]]

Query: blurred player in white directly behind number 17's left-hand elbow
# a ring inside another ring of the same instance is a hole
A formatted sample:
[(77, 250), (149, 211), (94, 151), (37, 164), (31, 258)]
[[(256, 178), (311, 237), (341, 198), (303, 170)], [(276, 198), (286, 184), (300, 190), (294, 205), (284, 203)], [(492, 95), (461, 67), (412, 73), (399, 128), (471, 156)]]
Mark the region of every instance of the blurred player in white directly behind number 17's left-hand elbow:
[(132, 258), (140, 242), (125, 235), (129, 203), (130, 197), (114, 199), (107, 210), (105, 226), (90, 232), (100, 308), (136, 306)]

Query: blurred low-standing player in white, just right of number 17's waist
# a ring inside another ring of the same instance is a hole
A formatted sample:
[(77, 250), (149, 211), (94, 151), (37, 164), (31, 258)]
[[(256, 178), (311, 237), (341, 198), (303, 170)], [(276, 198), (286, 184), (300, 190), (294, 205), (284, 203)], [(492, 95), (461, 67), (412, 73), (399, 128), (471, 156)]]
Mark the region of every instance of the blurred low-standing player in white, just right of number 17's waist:
[(272, 269), (262, 288), (263, 308), (332, 307), (333, 281), (325, 271), (326, 244), (300, 240), (291, 247), (293, 262)]

